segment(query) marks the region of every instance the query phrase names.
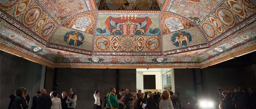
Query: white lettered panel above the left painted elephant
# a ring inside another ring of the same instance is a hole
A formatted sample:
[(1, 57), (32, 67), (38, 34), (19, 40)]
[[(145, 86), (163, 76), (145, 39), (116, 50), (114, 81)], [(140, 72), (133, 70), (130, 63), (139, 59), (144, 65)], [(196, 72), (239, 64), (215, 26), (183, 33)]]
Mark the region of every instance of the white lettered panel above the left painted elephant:
[(76, 23), (72, 26), (73, 29), (78, 29), (80, 31), (85, 31), (86, 27), (90, 25), (91, 20), (88, 17), (80, 17), (76, 20)]

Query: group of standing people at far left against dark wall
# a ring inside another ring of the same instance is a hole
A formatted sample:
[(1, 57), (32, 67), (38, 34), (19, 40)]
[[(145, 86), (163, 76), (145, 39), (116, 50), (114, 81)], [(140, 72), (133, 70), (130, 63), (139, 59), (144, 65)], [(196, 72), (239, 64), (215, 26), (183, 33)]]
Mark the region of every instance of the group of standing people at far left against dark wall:
[[(70, 96), (67, 96), (67, 92), (62, 92), (61, 98), (58, 98), (58, 92), (53, 91), (47, 95), (47, 90), (41, 89), (32, 98), (31, 109), (76, 109), (76, 89), (71, 88), (69, 93)], [(26, 88), (18, 88), (9, 98), (11, 101), (8, 109), (30, 109), (30, 97)]]

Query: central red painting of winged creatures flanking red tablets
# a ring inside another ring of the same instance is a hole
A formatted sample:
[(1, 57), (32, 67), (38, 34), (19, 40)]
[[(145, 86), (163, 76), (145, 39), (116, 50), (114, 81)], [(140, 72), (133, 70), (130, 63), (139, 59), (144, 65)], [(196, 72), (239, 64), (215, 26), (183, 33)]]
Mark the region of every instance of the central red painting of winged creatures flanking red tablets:
[[(122, 15), (122, 17), (108, 17), (105, 21), (110, 34), (114, 35), (145, 35), (152, 21), (149, 17), (135, 17)], [(158, 29), (150, 29), (151, 34), (158, 35)]]

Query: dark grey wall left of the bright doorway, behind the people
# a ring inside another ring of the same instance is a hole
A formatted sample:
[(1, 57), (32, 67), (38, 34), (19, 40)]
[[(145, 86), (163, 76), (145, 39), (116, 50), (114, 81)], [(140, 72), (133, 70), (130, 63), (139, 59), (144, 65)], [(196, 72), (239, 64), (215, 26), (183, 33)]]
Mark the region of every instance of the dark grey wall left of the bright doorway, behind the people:
[[(116, 69), (70, 69), (58, 68), (57, 91), (76, 89), (77, 109), (92, 109), (94, 91), (99, 90), (102, 100), (111, 87), (116, 87)], [(119, 69), (119, 88), (136, 91), (136, 69)], [(69, 94), (68, 94), (69, 95)]]

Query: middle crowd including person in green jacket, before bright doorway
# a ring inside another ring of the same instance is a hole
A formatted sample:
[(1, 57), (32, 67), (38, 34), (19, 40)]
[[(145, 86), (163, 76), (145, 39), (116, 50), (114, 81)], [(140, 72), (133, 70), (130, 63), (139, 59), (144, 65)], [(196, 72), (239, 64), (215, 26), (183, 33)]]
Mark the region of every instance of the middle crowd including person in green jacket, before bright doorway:
[[(170, 94), (171, 93), (171, 94)], [(104, 98), (102, 104), (99, 91), (94, 93), (95, 103), (93, 109), (174, 109), (171, 97), (173, 92), (145, 92), (141, 90), (131, 92), (131, 89), (120, 89), (116, 94), (116, 89), (111, 88)]]

